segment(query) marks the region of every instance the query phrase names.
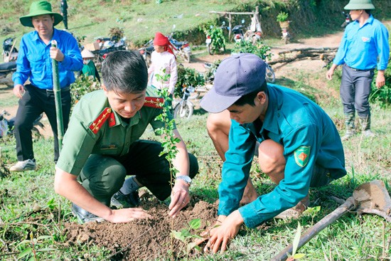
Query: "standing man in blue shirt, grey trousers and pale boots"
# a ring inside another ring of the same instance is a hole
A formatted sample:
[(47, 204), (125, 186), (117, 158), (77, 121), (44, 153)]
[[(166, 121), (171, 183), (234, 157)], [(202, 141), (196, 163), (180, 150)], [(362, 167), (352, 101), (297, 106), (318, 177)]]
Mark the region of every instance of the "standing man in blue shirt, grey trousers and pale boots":
[(345, 6), (353, 23), (346, 26), (336, 58), (326, 78), (331, 80), (338, 65), (343, 65), (340, 95), (345, 114), (346, 134), (342, 140), (355, 134), (355, 111), (360, 119), (364, 137), (374, 137), (370, 130), (369, 96), (374, 70), (377, 67), (376, 87), (385, 85), (385, 69), (390, 58), (387, 28), (370, 11), (375, 9), (370, 0), (350, 0)]

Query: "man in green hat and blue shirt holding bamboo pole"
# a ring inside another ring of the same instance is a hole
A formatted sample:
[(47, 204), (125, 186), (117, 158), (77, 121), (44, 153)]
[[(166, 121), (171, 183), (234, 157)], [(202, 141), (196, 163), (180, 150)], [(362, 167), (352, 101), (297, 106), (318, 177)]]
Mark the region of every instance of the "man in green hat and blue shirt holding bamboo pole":
[[(52, 59), (58, 61), (64, 129), (68, 127), (69, 121), (70, 84), (75, 82), (73, 71), (82, 70), (82, 56), (77, 41), (70, 33), (54, 28), (63, 20), (63, 16), (53, 13), (48, 1), (33, 2), (30, 13), (21, 16), (19, 20), (23, 26), (33, 27), (35, 31), (21, 38), (16, 72), (12, 76), (14, 95), (20, 100), (15, 119), (18, 162), (11, 166), (10, 171), (36, 169), (31, 128), (33, 121), (42, 112), (45, 112), (53, 130), (54, 161), (57, 161), (59, 151)], [(51, 47), (52, 40), (57, 41), (57, 47)], [(26, 80), (29, 83), (24, 85)]]

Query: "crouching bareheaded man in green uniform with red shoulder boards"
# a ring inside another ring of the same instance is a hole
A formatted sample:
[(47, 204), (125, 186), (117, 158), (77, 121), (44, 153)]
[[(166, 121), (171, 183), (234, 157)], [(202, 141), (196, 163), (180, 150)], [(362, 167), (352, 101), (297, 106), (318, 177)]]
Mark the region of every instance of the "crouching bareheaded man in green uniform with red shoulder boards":
[[(148, 218), (141, 208), (109, 208), (114, 193), (136, 205), (135, 194), (141, 186), (161, 201), (171, 193), (168, 208), (173, 217), (190, 200), (188, 187), (198, 163), (188, 154), (178, 130), (173, 130), (181, 142), (176, 144), (173, 166), (178, 174), (172, 190), (168, 161), (159, 156), (161, 144), (139, 139), (148, 124), (155, 130), (164, 127), (164, 122), (156, 120), (162, 112), (162, 99), (146, 97), (147, 81), (145, 61), (139, 53), (110, 53), (102, 64), (103, 90), (85, 95), (73, 110), (56, 165), (55, 192), (73, 202), (73, 213), (81, 222), (105, 219), (125, 223)], [(127, 175), (133, 176), (124, 181)]]

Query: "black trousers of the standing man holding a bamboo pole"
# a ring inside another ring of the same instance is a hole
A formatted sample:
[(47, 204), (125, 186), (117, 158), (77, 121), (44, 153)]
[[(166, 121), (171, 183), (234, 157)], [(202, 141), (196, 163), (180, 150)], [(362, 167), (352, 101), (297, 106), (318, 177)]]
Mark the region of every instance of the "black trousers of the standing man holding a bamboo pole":
[[(57, 162), (59, 150), (54, 92), (53, 90), (39, 89), (33, 85), (25, 85), (24, 89), (25, 93), (21, 100), (19, 100), (19, 107), (18, 111), (16, 112), (14, 129), (16, 139), (16, 156), (18, 157), (18, 161), (34, 159), (31, 129), (33, 128), (34, 120), (42, 112), (45, 112), (54, 135), (54, 161)], [(61, 90), (61, 102), (63, 107), (63, 125), (65, 132), (65, 130), (68, 128), (70, 114), (69, 87)]]

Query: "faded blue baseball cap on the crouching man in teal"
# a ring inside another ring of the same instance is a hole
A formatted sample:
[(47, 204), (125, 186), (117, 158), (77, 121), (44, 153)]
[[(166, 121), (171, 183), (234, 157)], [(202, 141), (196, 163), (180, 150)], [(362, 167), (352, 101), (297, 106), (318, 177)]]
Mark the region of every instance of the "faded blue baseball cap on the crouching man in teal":
[(266, 63), (252, 53), (239, 53), (225, 58), (215, 74), (212, 89), (200, 101), (207, 112), (218, 113), (240, 97), (259, 90), (265, 81)]

